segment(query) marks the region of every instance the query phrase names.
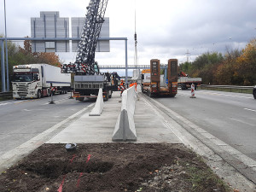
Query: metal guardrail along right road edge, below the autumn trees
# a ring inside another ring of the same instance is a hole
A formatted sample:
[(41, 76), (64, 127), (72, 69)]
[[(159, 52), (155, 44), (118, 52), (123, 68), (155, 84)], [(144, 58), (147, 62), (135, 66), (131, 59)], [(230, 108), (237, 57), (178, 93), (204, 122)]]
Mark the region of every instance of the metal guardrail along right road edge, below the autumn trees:
[(201, 89), (201, 90), (219, 90), (219, 91), (226, 91), (226, 92), (253, 94), (254, 86), (201, 84), (201, 87), (198, 87), (198, 88)]

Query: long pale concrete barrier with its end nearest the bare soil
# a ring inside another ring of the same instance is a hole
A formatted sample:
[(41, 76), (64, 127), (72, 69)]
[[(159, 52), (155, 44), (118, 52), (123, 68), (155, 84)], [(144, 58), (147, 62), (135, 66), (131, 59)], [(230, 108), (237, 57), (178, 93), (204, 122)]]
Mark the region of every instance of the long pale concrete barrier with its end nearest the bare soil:
[(119, 114), (113, 131), (113, 142), (137, 141), (137, 134), (133, 119), (136, 101), (137, 94), (135, 91), (135, 86), (132, 86), (128, 90), (124, 90), (122, 94), (121, 113)]

